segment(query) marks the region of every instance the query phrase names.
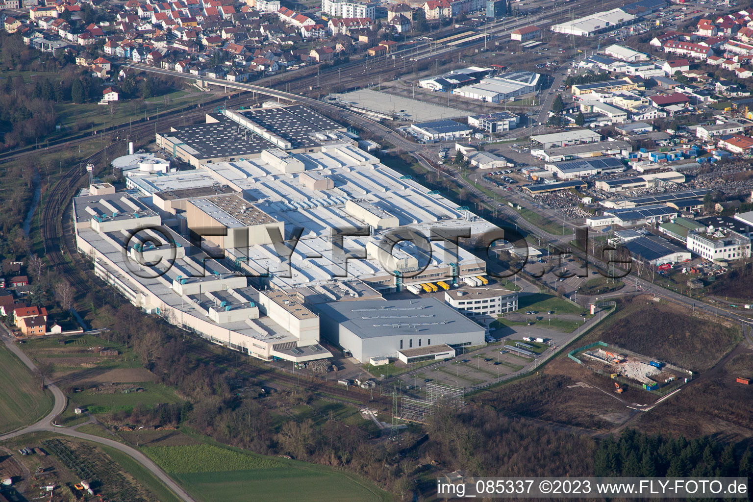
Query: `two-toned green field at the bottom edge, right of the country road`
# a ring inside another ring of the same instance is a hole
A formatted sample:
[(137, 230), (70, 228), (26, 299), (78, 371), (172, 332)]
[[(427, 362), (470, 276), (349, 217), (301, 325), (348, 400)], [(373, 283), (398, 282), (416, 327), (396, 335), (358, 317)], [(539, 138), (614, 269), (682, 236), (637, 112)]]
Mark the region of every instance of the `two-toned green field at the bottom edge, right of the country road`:
[(143, 450), (202, 502), (246, 502), (249, 494), (258, 502), (390, 500), (386, 492), (356, 476), (305, 462), (209, 444)]

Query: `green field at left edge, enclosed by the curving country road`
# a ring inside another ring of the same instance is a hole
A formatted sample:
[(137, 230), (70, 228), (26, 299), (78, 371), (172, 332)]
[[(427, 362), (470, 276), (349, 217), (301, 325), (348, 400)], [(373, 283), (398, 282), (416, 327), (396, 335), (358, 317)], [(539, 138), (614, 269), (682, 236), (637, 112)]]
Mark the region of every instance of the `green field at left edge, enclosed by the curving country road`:
[(30, 425), (52, 409), (53, 400), (39, 388), (29, 369), (0, 343), (0, 432)]

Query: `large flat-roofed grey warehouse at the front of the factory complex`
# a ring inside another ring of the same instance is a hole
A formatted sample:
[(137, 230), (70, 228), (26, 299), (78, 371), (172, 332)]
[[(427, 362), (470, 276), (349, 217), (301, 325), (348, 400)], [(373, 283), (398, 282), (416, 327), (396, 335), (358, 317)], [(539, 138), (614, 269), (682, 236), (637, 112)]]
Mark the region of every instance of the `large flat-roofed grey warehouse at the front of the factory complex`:
[(364, 363), (398, 351), (482, 345), (484, 328), (435, 298), (322, 303), (322, 335)]

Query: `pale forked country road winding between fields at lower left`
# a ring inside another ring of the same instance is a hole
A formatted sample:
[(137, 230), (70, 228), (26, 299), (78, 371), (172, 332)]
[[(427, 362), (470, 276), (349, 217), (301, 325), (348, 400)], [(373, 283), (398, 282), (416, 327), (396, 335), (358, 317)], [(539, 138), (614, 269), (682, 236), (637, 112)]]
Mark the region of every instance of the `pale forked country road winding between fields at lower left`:
[[(32, 373), (37, 373), (37, 366), (34, 364), (34, 361), (29, 359), (29, 356), (23, 353), (23, 351), (18, 348), (16, 345), (16, 342), (11, 337), (11, 334), (8, 333), (7, 328), (5, 326), (0, 325), (0, 337), (2, 337), (3, 342), (5, 342), (5, 346), (8, 347), (8, 350), (13, 352), (17, 355), (17, 357), (23, 361), (23, 364), (26, 364), (26, 367), (29, 368), (29, 370), (32, 371)], [(99, 443), (101, 445), (110, 446), (111, 448), (117, 449), (120, 452), (125, 453), (126, 455), (133, 458), (133, 460), (139, 462), (139, 464), (142, 464), (142, 466), (146, 467), (149, 472), (154, 474), (158, 479), (160, 479), (165, 485), (167, 485), (168, 488), (170, 488), (178, 497), (180, 497), (185, 502), (196, 502), (194, 498), (191, 497), (191, 495), (187, 494), (183, 488), (178, 486), (176, 482), (174, 482), (160, 467), (157, 467), (157, 464), (154, 464), (153, 461), (151, 461), (146, 455), (144, 455), (142, 452), (139, 452), (139, 450), (131, 448), (130, 446), (124, 445), (123, 443), (118, 443), (114, 440), (108, 440), (105, 437), (99, 437), (99, 436), (93, 436), (92, 434), (84, 434), (83, 432), (78, 432), (75, 430), (76, 427), (79, 427), (79, 425), (75, 425), (73, 427), (56, 427), (53, 425), (53, 419), (62, 413), (64, 409), (66, 409), (66, 395), (62, 393), (62, 391), (58, 388), (58, 386), (55, 384), (55, 382), (52, 382), (50, 379), (45, 379), (44, 385), (47, 386), (48, 389), (53, 394), (53, 397), (55, 399), (55, 403), (53, 405), (53, 409), (50, 413), (47, 414), (44, 418), (42, 418), (40, 421), (36, 422), (35, 424), (31, 424), (28, 427), (23, 427), (17, 431), (3, 434), (0, 436), (0, 441), (10, 440), (14, 437), (23, 436), (24, 434), (32, 434), (34, 432), (53, 432), (56, 434), (63, 434), (70, 437), (76, 437), (81, 440), (87, 440), (91, 441), (93, 443)]]

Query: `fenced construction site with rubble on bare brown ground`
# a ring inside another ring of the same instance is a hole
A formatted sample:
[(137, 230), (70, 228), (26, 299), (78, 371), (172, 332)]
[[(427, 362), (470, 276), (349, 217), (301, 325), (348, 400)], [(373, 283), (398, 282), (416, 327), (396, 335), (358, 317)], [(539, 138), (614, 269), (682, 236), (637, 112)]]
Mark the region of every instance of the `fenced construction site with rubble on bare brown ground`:
[(576, 348), (569, 352), (568, 357), (589, 370), (609, 375), (616, 381), (614, 390), (618, 394), (626, 390), (626, 386), (636, 383), (646, 391), (666, 394), (693, 378), (690, 370), (605, 342)]

